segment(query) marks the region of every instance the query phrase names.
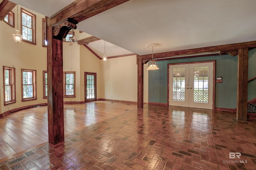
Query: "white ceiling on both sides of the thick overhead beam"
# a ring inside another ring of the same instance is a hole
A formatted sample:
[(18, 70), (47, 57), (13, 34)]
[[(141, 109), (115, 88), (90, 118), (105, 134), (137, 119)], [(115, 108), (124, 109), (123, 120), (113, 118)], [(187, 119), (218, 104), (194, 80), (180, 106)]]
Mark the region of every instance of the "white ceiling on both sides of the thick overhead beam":
[[(10, 1), (51, 16), (74, 0)], [(154, 53), (162, 53), (256, 41), (255, 7), (256, 0), (130, 0), (77, 27), (112, 44), (115, 55), (146, 55), (151, 43), (160, 44)], [(102, 42), (89, 47), (102, 53)]]

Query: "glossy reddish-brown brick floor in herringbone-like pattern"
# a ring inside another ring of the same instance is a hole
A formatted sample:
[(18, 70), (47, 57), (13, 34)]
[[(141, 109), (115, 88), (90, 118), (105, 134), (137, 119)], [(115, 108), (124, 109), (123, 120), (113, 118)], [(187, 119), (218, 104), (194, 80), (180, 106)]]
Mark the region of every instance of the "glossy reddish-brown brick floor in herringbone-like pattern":
[(256, 170), (256, 121), (145, 105), (0, 163), (8, 169)]

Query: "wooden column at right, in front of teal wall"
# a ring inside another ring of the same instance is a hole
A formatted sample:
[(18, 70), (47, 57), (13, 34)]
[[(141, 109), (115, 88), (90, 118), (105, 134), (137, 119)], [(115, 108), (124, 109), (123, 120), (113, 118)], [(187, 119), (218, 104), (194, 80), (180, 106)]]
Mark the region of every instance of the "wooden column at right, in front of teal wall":
[(247, 121), (248, 48), (238, 49), (236, 119)]

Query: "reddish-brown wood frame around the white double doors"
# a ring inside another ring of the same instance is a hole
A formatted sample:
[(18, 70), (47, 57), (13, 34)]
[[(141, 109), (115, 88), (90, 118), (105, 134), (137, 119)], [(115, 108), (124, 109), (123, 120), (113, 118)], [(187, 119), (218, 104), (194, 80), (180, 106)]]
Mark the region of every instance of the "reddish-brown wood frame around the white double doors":
[(212, 70), (212, 110), (215, 109), (215, 67), (216, 67), (216, 61), (215, 60), (211, 60), (211, 61), (196, 61), (196, 62), (185, 62), (185, 63), (170, 63), (167, 64), (167, 105), (169, 106), (169, 88), (170, 88), (170, 84), (169, 84), (169, 74), (170, 74), (170, 70), (169, 70), (169, 66), (170, 65), (180, 65), (180, 64), (196, 64), (196, 63), (212, 63), (213, 65), (213, 70)]

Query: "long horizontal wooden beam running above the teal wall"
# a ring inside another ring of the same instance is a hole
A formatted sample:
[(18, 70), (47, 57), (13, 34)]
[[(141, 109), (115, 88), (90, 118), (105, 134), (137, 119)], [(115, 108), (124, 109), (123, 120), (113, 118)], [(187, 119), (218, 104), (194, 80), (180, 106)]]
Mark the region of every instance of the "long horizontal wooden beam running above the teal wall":
[[(170, 51), (166, 53), (156, 53), (154, 54), (154, 59), (164, 58), (164, 57), (172, 57), (177, 55), (191, 55), (197, 53), (209, 53), (214, 51), (232, 51), (240, 48), (256, 48), (256, 41), (249, 41), (244, 43), (234, 43), (228, 45), (217, 45), (212, 47), (202, 47), (196, 49), (187, 49), (187, 50), (179, 50), (179, 51)], [(152, 54), (142, 55), (142, 59), (152, 59)]]

